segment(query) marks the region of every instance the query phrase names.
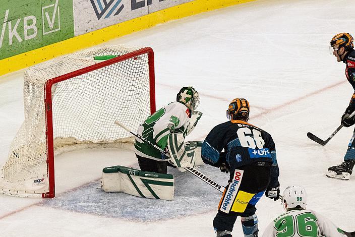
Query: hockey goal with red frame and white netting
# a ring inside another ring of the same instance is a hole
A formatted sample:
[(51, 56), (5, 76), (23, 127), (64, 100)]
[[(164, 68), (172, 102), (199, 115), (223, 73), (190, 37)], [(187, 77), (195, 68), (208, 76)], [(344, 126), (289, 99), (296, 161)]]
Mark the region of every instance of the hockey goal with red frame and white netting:
[[(105, 55), (112, 58), (95, 60)], [(153, 50), (102, 46), (33, 66), (24, 75), (24, 107), (0, 189), (53, 198), (54, 154), (125, 142), (130, 134), (114, 121), (137, 129), (155, 111)]]

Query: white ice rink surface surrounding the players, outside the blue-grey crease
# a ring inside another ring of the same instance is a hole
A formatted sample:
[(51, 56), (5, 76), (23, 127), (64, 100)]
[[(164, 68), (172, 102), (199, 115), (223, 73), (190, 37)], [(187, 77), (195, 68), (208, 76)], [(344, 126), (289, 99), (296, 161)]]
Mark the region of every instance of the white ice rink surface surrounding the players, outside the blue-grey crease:
[[(190, 140), (203, 140), (225, 122), (235, 97), (251, 104), (250, 123), (268, 131), (276, 144), (281, 191), (301, 185), (308, 208), (346, 231), (355, 230), (355, 176), (328, 179), (342, 161), (353, 128), (338, 127), (353, 93), (343, 63), (329, 54), (339, 32), (355, 34), (355, 3), (349, 0), (257, 1), (204, 13), (117, 38), (107, 44), (150, 46), (155, 52), (157, 108), (193, 85), (204, 113)], [(24, 119), (23, 71), (0, 77), (0, 163)], [(212, 220), (220, 194), (189, 173), (176, 177), (175, 200), (160, 201), (97, 190), (109, 165), (137, 167), (132, 151), (75, 151), (55, 158), (56, 198), (0, 195), (0, 236), (214, 236)], [(201, 167), (221, 184), (227, 176)], [(257, 204), (260, 233), (283, 212), (265, 196)], [(243, 236), (240, 219), (233, 236)], [(261, 236), (261, 234), (259, 235)]]

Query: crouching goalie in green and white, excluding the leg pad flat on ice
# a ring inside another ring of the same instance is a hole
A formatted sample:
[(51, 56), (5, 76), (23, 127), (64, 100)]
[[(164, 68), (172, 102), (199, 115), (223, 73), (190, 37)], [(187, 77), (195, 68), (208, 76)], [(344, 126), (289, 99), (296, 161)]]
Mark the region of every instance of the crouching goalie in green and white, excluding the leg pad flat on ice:
[(137, 134), (167, 151), (171, 158), (136, 138), (134, 151), (141, 170), (166, 173), (166, 160), (178, 168), (194, 166), (197, 144), (184, 143), (184, 139), (202, 116), (201, 112), (196, 111), (199, 103), (200, 97), (195, 88), (183, 87), (177, 93), (176, 101), (147, 117), (138, 128)]

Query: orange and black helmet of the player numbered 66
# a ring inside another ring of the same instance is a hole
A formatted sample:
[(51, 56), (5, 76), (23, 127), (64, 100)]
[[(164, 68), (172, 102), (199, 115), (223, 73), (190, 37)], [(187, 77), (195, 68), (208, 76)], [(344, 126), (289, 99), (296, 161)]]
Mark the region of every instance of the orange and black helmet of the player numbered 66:
[(243, 120), (247, 122), (249, 120), (249, 111), (248, 100), (236, 98), (228, 105), (227, 118), (229, 118), (229, 120)]

